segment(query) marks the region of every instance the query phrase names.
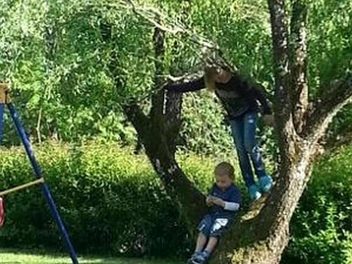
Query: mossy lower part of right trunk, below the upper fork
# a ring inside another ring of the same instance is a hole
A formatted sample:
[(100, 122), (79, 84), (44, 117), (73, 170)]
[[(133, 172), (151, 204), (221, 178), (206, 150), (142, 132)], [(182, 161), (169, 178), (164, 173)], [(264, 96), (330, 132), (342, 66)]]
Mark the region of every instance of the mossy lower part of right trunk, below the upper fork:
[(309, 180), (317, 150), (308, 142), (301, 144), (296, 162), (281, 166), (271, 195), (254, 202), (224, 235), (211, 264), (279, 263), (289, 241), (291, 217)]

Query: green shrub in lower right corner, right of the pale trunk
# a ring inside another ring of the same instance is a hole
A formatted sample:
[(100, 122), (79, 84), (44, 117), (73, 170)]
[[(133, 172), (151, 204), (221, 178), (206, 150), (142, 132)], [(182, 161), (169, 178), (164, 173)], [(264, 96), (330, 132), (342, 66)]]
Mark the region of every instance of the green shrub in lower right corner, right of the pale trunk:
[(291, 221), (283, 264), (352, 262), (352, 146), (323, 158)]

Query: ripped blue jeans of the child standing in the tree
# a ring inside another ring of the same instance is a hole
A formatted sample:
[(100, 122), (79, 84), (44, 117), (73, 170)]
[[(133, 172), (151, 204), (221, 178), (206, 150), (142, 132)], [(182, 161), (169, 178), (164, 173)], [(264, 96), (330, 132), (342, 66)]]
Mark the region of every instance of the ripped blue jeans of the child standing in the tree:
[(243, 180), (247, 187), (254, 184), (250, 159), (256, 175), (258, 177), (266, 176), (265, 167), (256, 140), (257, 120), (257, 112), (252, 111), (230, 120), (232, 137), (235, 142)]

